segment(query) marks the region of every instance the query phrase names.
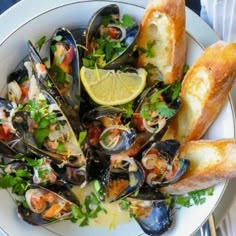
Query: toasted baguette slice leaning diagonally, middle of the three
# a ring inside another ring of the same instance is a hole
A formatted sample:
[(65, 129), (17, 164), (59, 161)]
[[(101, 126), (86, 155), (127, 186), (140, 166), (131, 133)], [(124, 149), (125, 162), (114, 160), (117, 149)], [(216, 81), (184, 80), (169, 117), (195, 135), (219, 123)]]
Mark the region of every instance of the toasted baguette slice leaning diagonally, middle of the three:
[(163, 140), (180, 143), (203, 137), (228, 98), (236, 79), (236, 43), (219, 41), (207, 48), (184, 77), (182, 105)]

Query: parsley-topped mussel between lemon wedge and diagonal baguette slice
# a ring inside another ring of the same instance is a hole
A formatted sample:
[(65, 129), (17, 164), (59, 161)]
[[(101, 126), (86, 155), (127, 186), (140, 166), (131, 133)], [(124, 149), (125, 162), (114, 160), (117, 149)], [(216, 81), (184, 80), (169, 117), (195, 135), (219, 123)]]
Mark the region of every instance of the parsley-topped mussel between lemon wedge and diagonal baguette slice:
[(168, 122), (180, 107), (179, 85), (158, 83), (147, 88), (135, 104), (130, 126), (137, 132), (134, 144), (127, 155), (135, 156), (153, 140), (161, 140)]

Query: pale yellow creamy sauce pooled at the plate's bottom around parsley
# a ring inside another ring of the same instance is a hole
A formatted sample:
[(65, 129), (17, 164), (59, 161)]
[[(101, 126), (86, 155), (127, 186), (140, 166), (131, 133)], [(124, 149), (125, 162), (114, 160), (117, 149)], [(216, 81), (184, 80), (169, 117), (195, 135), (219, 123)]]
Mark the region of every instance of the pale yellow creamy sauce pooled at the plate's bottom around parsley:
[[(84, 202), (85, 197), (95, 190), (93, 183), (89, 183), (84, 188), (80, 188), (79, 186), (73, 187), (72, 191), (80, 202)], [(101, 211), (96, 219), (89, 219), (89, 226), (114, 229), (118, 224), (124, 224), (132, 220), (129, 216), (129, 212), (121, 210), (118, 202), (102, 202), (101, 207), (105, 208), (107, 213)]]

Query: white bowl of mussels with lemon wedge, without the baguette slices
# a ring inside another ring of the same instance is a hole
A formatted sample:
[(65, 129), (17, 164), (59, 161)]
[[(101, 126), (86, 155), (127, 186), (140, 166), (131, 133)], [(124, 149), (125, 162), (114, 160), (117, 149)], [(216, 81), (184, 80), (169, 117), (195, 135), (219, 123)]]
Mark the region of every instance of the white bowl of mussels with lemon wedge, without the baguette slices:
[[(159, 191), (190, 163), (176, 158), (178, 141), (161, 141), (181, 105), (179, 85), (164, 84), (155, 68), (148, 84), (150, 71), (137, 66), (144, 12), (116, 1), (64, 4), (1, 45), (0, 228), (7, 235), (190, 235), (216, 206), (224, 183), (212, 196), (195, 195), (204, 204)], [(190, 66), (203, 49), (186, 35)], [(157, 101), (161, 115), (150, 111)], [(209, 139), (223, 133), (220, 120), (233, 127), (231, 111), (228, 103)]]

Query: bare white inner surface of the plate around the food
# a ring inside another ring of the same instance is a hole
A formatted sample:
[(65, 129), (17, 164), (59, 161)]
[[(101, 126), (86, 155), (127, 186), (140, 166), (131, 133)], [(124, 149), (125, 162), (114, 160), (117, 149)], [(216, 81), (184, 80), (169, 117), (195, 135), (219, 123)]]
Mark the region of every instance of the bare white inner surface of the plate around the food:
[[(113, 1), (116, 2), (116, 1)], [(0, 90), (5, 84), (5, 78), (19, 63), (20, 59), (25, 57), (27, 51), (27, 40), (33, 42), (42, 35), (51, 37), (54, 30), (65, 26), (71, 30), (86, 26), (89, 17), (99, 7), (109, 4), (109, 1), (83, 1), (73, 4), (64, 4), (26, 22), (23, 26), (17, 28), (0, 47), (2, 63), (0, 64), (2, 83)], [(137, 20), (140, 20), (144, 9), (134, 4), (117, 2), (121, 12), (129, 13)], [(191, 65), (202, 53), (201, 46), (190, 36), (188, 37), (187, 63)], [(4, 58), (4, 59), (3, 59)], [(3, 63), (4, 62), (4, 63)], [(218, 116), (212, 127), (207, 133), (209, 139), (233, 138), (234, 137), (234, 115), (230, 100), (224, 106), (221, 114)], [(196, 232), (198, 227), (204, 223), (209, 214), (216, 207), (221, 198), (226, 182), (219, 184), (215, 188), (214, 196), (208, 197), (205, 204), (191, 208), (182, 208), (176, 213), (176, 220), (173, 227), (166, 235), (188, 236)], [(138, 236), (142, 230), (135, 222), (118, 225), (116, 229), (109, 230), (104, 227), (84, 227), (81, 228), (70, 222), (56, 223), (46, 228), (30, 226), (18, 219), (16, 215), (16, 205), (11, 195), (5, 191), (0, 191), (0, 228), (10, 236), (25, 235), (63, 235), (63, 236)], [(128, 232), (128, 233), (127, 233)]]

